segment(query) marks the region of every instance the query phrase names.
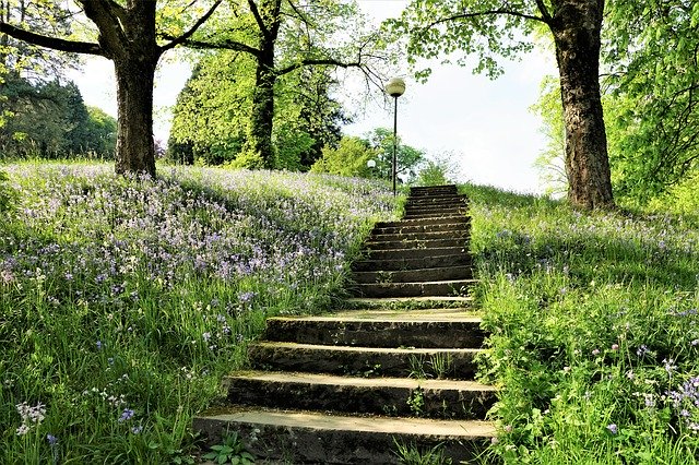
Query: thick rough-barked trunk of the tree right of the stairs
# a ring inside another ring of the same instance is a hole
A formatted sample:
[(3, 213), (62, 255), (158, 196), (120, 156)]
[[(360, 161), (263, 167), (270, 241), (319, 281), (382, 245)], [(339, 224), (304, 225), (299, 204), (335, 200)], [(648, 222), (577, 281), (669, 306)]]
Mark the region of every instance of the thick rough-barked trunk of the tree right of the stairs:
[(614, 206), (600, 94), (604, 0), (555, 0), (550, 23), (566, 124), (568, 200), (576, 207)]

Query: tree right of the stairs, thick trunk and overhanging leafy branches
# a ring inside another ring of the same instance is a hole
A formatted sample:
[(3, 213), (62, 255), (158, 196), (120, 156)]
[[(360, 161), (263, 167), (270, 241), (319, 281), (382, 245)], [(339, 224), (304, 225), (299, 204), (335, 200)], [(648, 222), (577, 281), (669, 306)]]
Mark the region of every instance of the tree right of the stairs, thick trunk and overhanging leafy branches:
[(614, 205), (599, 78), (603, 11), (604, 0), (413, 0), (388, 24), (407, 37), (413, 64), (461, 50), (477, 55), (475, 71), (490, 76), (501, 72), (497, 57), (531, 49), (520, 37), (545, 25), (561, 82), (568, 199), (593, 208)]

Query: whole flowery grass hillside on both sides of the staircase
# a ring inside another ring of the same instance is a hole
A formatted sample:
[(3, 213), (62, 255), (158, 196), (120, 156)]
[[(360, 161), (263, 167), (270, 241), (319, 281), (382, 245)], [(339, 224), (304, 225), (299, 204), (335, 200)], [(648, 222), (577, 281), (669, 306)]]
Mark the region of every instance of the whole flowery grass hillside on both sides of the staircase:
[[(380, 184), (13, 165), (0, 223), (0, 463), (191, 463), (191, 417), (268, 315), (330, 307)], [(490, 456), (699, 461), (699, 220), (472, 199), (476, 293), (501, 386)], [(490, 456), (485, 458), (489, 463)]]

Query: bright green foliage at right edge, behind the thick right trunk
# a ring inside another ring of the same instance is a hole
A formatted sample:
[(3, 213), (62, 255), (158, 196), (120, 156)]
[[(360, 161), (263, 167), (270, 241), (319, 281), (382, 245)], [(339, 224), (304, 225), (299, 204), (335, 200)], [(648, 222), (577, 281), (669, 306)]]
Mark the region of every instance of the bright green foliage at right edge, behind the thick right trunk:
[(699, 160), (699, 3), (617, 0), (605, 23), (615, 189), (642, 203)]

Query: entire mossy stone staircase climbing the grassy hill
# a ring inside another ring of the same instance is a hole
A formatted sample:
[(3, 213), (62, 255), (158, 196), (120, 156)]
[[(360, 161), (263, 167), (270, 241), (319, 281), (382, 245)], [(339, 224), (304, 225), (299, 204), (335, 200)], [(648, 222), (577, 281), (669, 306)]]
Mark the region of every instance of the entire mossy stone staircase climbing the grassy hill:
[(396, 444), (469, 463), (495, 434), (495, 389), (473, 381), (484, 334), (469, 305), (467, 203), (413, 188), (353, 265), (353, 310), (273, 318), (253, 370), (224, 380), (229, 407), (194, 419), (209, 443), (236, 431), (261, 463), (392, 464)]

